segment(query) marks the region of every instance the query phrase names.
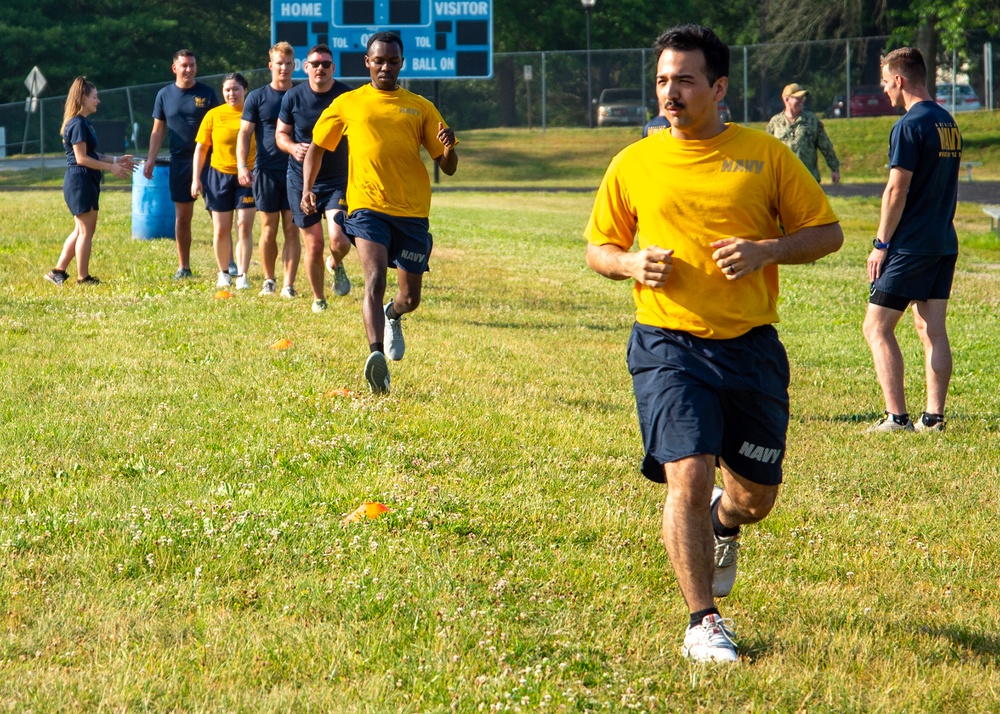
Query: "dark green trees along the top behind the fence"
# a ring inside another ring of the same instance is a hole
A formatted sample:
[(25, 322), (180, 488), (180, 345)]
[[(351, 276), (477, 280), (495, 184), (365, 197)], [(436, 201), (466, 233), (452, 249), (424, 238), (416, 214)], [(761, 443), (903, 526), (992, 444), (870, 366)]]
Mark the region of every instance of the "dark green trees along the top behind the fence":
[[(493, 0), (493, 17), (496, 52), (584, 47), (579, 0)], [(890, 34), (894, 45), (920, 46), (933, 64), (952, 49), (962, 53), (969, 28), (995, 35), (1000, 0), (597, 0), (591, 46), (647, 47), (683, 22), (708, 25), (731, 45)], [(197, 53), (201, 74), (263, 67), (270, 40), (269, 0), (4, 0), (0, 103), (27, 96), (23, 81), (36, 65), (51, 96), (80, 74), (107, 88), (169, 81), (181, 47)]]

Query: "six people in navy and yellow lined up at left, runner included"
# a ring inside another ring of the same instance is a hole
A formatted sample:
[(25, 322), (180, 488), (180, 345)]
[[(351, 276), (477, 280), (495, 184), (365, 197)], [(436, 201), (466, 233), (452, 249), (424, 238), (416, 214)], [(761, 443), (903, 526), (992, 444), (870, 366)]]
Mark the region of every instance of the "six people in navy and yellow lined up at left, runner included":
[[(307, 81), (293, 87), (294, 50), (279, 42), (269, 52), (270, 83), (248, 92), (246, 78), (232, 72), (223, 79), (220, 103), (215, 91), (196, 79), (194, 53), (180, 50), (171, 64), (175, 81), (156, 96), (142, 170), (152, 179), (156, 157), (169, 139), (175, 279), (192, 277), (191, 221), (201, 196), (212, 215), (218, 287), (232, 286), (235, 278), (237, 290), (250, 288), (247, 273), (258, 213), (262, 296), (296, 297), (295, 279), (304, 258), (312, 310), (322, 313), (327, 309), (324, 271), (333, 276), (334, 293), (347, 295), (351, 281), (344, 258), (352, 245), (357, 247), (369, 343), (363, 373), (373, 392), (386, 393), (388, 362), (402, 359), (405, 349), (401, 319), (420, 303), (433, 245), (430, 179), (420, 149), (451, 175), (458, 166), (458, 140), (430, 101), (398, 84), (403, 43), (396, 34), (371, 35), (365, 65), (371, 82), (352, 90), (334, 79), (330, 48), (315, 45), (303, 62)], [(130, 155), (97, 153), (97, 137), (87, 120), (97, 104), (97, 89), (78, 78), (66, 100), (62, 132), (69, 165), (66, 202), (75, 228), (55, 269), (45, 276), (56, 285), (66, 281), (74, 257), (77, 282), (99, 282), (88, 270), (101, 172), (126, 178), (135, 168)], [(280, 292), (275, 273), (279, 227), (284, 238)], [(383, 304), (389, 267), (396, 268), (399, 289)]]

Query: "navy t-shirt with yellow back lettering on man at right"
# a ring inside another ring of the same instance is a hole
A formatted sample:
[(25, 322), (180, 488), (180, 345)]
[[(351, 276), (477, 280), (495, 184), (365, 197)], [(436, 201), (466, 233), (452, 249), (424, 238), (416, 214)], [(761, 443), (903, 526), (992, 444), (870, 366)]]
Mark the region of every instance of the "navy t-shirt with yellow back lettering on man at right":
[(892, 250), (913, 255), (958, 253), (955, 204), (962, 134), (955, 119), (926, 100), (910, 107), (889, 135), (889, 166), (912, 171)]

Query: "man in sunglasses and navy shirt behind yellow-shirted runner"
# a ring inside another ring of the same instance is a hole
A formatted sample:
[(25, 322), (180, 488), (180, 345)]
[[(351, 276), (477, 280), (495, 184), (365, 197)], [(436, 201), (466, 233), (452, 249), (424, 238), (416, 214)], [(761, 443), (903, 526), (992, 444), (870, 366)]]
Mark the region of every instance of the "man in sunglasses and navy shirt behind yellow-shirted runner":
[(343, 229), (333, 220), (338, 213), (347, 210), (347, 142), (341, 142), (336, 151), (323, 155), (319, 175), (313, 191), (316, 194), (316, 212), (306, 215), (302, 212), (302, 162), (312, 142), (312, 130), (316, 120), (336, 97), (351, 88), (333, 78), (336, 67), (333, 54), (326, 45), (316, 45), (309, 50), (303, 63), (308, 82), (293, 87), (281, 100), (278, 128), (275, 141), (278, 148), (289, 155), (288, 160), (288, 203), (292, 216), (302, 231), (305, 243), (306, 274), (313, 292), (313, 312), (326, 310), (326, 296), (323, 287), (323, 224), (326, 218), (330, 231), (330, 271), (333, 273), (333, 291), (337, 295), (347, 295), (351, 281), (344, 271), (344, 257), (351, 249), (351, 243)]

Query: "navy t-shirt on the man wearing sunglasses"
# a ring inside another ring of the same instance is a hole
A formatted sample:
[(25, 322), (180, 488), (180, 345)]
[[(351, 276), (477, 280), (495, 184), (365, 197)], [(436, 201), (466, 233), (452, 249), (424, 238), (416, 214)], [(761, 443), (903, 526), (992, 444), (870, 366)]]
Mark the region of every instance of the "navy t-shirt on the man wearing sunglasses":
[[(296, 143), (308, 144), (312, 141), (312, 130), (319, 115), (333, 103), (333, 100), (351, 88), (339, 80), (333, 80), (329, 91), (317, 94), (309, 87), (309, 82), (296, 85), (285, 93), (281, 100), (281, 121), (292, 126), (292, 138)], [(346, 137), (345, 137), (346, 138)], [(316, 174), (314, 186), (317, 188), (347, 188), (347, 142), (341, 141), (334, 151), (323, 154), (323, 163)], [(294, 156), (288, 158), (288, 180), (292, 185), (302, 187), (302, 164)]]

